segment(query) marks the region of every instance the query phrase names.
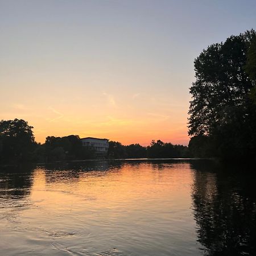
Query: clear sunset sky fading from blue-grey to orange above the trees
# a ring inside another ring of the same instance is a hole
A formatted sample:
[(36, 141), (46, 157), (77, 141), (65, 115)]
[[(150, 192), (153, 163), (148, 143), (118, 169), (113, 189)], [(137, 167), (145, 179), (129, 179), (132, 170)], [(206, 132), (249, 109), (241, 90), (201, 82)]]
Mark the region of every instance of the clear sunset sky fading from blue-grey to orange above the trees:
[(187, 145), (193, 60), (256, 29), (255, 0), (0, 0), (0, 119)]

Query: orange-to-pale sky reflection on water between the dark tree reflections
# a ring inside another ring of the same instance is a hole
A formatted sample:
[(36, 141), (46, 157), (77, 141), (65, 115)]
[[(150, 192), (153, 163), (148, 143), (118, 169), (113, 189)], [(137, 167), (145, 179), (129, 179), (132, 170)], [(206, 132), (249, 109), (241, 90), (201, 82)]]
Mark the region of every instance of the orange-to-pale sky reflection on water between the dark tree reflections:
[(38, 255), (197, 250), (189, 163), (87, 162), (36, 168), (29, 177), (30, 193), (14, 217), (24, 255), (32, 247)]

